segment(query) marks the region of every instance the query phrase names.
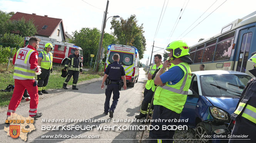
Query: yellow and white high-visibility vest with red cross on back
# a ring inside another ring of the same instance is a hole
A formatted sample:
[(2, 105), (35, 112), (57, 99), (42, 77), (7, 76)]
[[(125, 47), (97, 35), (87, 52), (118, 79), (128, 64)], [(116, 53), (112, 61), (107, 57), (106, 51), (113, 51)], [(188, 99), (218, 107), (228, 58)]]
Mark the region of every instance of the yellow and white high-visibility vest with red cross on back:
[(13, 78), (18, 80), (33, 80), (35, 76), (35, 69), (30, 69), (30, 55), (35, 52), (28, 47), (18, 49), (14, 64)]

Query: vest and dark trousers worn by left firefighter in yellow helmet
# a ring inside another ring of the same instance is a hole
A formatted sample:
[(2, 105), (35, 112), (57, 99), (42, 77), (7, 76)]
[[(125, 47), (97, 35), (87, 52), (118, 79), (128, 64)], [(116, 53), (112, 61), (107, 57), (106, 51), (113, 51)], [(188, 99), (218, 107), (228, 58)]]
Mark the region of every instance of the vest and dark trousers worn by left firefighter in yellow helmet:
[[(41, 61), (41, 69), (42, 69), (42, 73), (40, 75), (37, 76), (37, 80), (38, 80), (38, 94), (42, 94), (47, 92), (45, 91), (45, 88), (48, 84), (49, 81), (49, 76), (50, 76), (50, 71), (52, 70), (52, 60), (53, 60), (53, 55), (51, 52), (49, 52), (49, 54), (43, 50), (42, 52), (39, 53), (43, 55), (43, 59)], [(50, 57), (49, 57), (50, 55)]]

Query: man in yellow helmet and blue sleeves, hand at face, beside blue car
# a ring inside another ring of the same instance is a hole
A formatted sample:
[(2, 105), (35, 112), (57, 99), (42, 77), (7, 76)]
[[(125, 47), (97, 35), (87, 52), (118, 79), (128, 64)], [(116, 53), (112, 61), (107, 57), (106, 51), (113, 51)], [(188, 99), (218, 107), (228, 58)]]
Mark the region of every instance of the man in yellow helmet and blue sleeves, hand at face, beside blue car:
[[(191, 83), (189, 64), (192, 63), (192, 60), (189, 56), (187, 43), (181, 40), (173, 41), (166, 47), (166, 50), (170, 52), (169, 60), (163, 63), (162, 68), (157, 72), (154, 79), (154, 83), (159, 86), (154, 95), (154, 114), (152, 119), (160, 119), (160, 121), (151, 123), (153, 126), (159, 126), (159, 130), (153, 129), (149, 132), (152, 143), (172, 143), (175, 130), (163, 130), (162, 125), (178, 124), (175, 119), (178, 120), (181, 116)], [(172, 66), (168, 71), (164, 72), (168, 65)], [(169, 119), (172, 122), (168, 122)]]

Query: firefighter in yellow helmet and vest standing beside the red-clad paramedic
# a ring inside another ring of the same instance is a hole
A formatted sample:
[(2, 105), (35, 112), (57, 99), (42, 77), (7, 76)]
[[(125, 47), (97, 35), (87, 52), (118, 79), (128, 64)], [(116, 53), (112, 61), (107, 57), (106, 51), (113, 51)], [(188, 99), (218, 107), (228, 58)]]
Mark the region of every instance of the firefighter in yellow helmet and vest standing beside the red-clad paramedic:
[(45, 90), (45, 87), (48, 84), (50, 73), (52, 73), (52, 60), (53, 56), (50, 51), (52, 51), (52, 44), (46, 43), (44, 46), (44, 50), (38, 55), (38, 65), (41, 66), (42, 73), (37, 76), (38, 80), (38, 94), (43, 95), (48, 94)]

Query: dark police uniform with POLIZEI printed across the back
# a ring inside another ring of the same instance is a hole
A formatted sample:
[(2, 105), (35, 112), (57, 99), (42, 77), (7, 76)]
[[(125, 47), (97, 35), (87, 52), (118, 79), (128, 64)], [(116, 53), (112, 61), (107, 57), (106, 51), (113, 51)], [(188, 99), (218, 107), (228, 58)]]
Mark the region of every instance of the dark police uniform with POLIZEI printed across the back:
[[(124, 67), (120, 65), (117, 61), (110, 63), (105, 70), (105, 74), (108, 75), (109, 83), (105, 90), (105, 104), (104, 104), (104, 113), (107, 114), (110, 110), (114, 113), (115, 107), (119, 99), (119, 82), (122, 79), (122, 76), (125, 76)], [(111, 107), (109, 104), (111, 94), (113, 91), (113, 102)]]

